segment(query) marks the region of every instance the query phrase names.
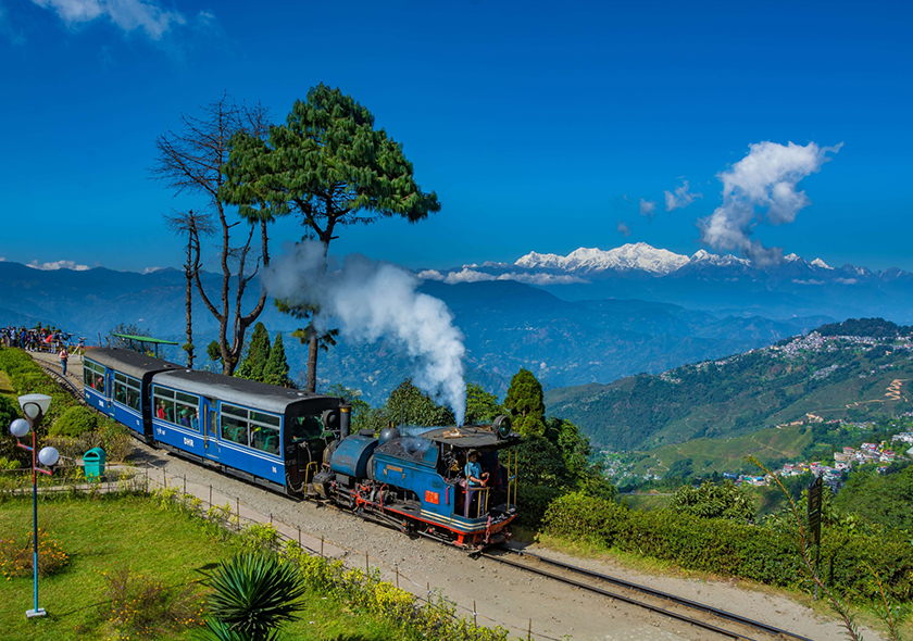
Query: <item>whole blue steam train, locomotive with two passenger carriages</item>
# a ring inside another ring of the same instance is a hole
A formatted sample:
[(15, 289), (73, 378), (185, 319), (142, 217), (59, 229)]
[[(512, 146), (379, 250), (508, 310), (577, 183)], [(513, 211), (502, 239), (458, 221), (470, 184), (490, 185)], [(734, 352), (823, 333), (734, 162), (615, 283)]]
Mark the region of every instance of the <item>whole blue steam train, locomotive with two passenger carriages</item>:
[[(129, 350), (83, 364), (86, 403), (149, 445), (297, 498), (477, 549), (510, 537), (520, 437), (490, 426), (349, 433), (341, 399), (187, 369)], [(465, 478), (478, 452), (487, 482)]]

